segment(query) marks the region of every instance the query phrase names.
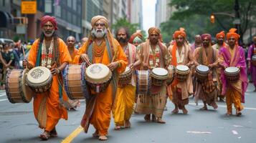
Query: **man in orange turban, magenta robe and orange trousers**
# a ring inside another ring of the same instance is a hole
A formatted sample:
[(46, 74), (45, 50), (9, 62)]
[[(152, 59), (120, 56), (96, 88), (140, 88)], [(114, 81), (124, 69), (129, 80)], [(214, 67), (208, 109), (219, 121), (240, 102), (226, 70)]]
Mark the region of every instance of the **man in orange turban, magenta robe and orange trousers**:
[[(242, 103), (245, 103), (245, 91), (248, 86), (245, 51), (238, 45), (240, 35), (236, 33), (237, 29), (229, 29), (227, 33), (228, 45), (219, 49), (219, 65), (222, 66), (222, 94), (226, 97), (227, 116), (232, 114), (232, 104), (236, 109), (236, 115), (242, 115)], [(227, 82), (224, 75), (224, 69), (229, 66), (236, 66), (240, 69), (240, 79), (237, 82)]]

